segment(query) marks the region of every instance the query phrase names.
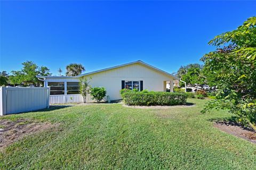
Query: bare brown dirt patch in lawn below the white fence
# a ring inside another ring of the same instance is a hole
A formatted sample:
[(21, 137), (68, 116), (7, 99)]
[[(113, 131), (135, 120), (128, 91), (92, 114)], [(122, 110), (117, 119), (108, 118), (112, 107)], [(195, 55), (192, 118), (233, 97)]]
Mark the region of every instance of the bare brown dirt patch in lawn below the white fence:
[(19, 119), (17, 121), (2, 119), (0, 120), (0, 150), (26, 135), (44, 131), (54, 126), (56, 125), (45, 122), (35, 123), (26, 119)]

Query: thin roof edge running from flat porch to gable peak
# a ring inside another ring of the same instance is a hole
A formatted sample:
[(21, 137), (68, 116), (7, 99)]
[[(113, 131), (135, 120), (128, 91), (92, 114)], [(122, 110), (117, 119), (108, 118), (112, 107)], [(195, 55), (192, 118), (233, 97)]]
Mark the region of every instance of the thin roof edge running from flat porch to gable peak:
[(126, 66), (126, 65), (131, 65), (131, 64), (136, 64), (136, 63), (139, 63), (139, 64), (142, 64), (142, 65), (145, 65), (147, 67), (150, 67), (151, 69), (153, 70), (156, 70), (158, 72), (161, 72), (161, 73), (164, 73), (166, 75), (169, 75), (171, 77), (173, 77), (174, 79), (179, 79), (178, 77), (175, 77), (174, 75), (170, 74), (170, 73), (167, 73), (161, 69), (158, 69), (157, 67), (154, 67), (152, 65), (149, 65), (145, 62), (142, 62), (140, 60), (138, 61), (135, 61), (135, 62), (131, 62), (131, 63), (126, 63), (126, 64), (122, 64), (122, 65), (117, 65), (117, 66), (113, 66), (113, 67), (108, 67), (106, 69), (101, 69), (101, 70), (97, 70), (97, 71), (92, 71), (92, 72), (89, 72), (89, 73), (85, 73), (85, 74), (81, 74), (81, 75), (78, 75), (76, 77), (66, 77), (66, 76), (40, 76), (38, 75), (37, 78), (80, 78), (80, 77), (83, 77), (85, 75), (91, 75), (91, 74), (94, 74), (94, 73), (99, 73), (99, 72), (102, 72), (102, 71), (107, 71), (107, 70), (111, 70), (111, 69), (116, 69), (116, 68), (119, 68), (119, 67), (123, 67), (123, 66)]

